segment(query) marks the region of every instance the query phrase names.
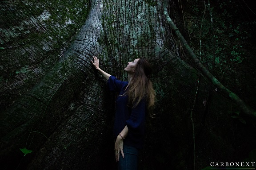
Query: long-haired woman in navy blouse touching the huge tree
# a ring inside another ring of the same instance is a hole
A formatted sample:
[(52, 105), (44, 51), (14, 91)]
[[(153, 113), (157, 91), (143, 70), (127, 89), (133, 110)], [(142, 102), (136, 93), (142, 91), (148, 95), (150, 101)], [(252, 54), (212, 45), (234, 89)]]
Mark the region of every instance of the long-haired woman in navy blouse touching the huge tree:
[(138, 151), (142, 149), (144, 142), (146, 112), (155, 103), (155, 90), (149, 80), (151, 65), (144, 58), (128, 62), (124, 68), (128, 73), (128, 81), (120, 81), (100, 69), (97, 57), (94, 56), (93, 59), (92, 65), (108, 80), (109, 89), (119, 93), (114, 123), (118, 169), (136, 170)]

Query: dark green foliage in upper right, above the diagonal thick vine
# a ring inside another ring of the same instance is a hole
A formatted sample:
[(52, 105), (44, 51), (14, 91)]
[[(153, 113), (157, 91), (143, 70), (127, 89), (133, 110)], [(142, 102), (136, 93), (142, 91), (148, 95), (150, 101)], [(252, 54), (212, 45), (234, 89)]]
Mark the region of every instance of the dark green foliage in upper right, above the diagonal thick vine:
[(245, 78), (253, 79), (250, 72), (255, 63), (252, 38), (255, 19), (248, 17), (249, 12), (243, 15), (248, 7), (241, 7), (235, 1), (209, 2), (212, 4), (196, 0), (192, 8), (183, 6), (187, 32), (182, 34), (187, 35), (186, 39), (190, 40), (190, 46), (204, 66), (220, 82), (225, 82), (226, 87), (238, 94), (242, 93), (241, 89), (252, 91), (253, 82), (246, 84), (246, 88), (244, 82)]

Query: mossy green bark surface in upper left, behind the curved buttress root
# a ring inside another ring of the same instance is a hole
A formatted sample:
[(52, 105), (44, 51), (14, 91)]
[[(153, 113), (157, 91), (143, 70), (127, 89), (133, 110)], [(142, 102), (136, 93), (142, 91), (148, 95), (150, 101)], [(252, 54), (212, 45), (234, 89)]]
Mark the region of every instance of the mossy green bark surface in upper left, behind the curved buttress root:
[(5, 56), (0, 59), (1, 93), (15, 86), (5, 90), (15, 95), (5, 98), (4, 107), (52, 70), (84, 24), (89, 8), (89, 0), (17, 0), (1, 7), (6, 14), (0, 28), (0, 56)]

